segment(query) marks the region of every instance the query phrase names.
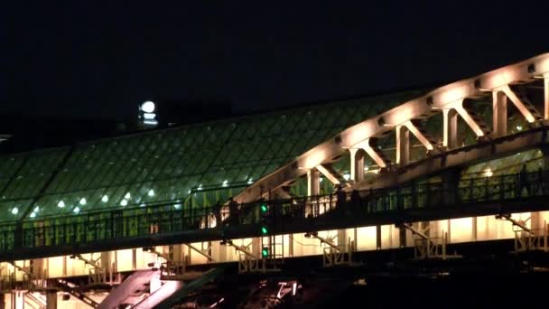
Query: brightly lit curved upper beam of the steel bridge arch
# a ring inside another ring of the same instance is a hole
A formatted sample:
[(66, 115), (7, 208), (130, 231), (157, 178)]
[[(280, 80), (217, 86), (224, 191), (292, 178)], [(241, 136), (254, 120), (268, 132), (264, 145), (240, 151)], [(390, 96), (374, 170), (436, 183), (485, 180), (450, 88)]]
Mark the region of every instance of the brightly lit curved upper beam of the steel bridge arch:
[[(535, 70), (531, 70), (535, 68)], [(471, 79), (453, 82), (444, 87), (434, 89), (425, 96), (415, 98), (396, 108), (387, 110), (376, 117), (369, 118), (355, 126), (343, 130), (340, 135), (330, 139), (321, 145), (300, 155), (290, 164), (270, 173), (256, 183), (249, 186), (244, 192), (237, 194), (236, 201), (254, 201), (261, 196), (261, 193), (273, 190), (284, 183), (289, 183), (306, 173), (307, 169), (330, 161), (332, 158), (342, 155), (344, 150), (353, 148), (353, 145), (368, 140), (368, 138), (381, 136), (394, 126), (402, 125), (406, 121), (419, 118), (431, 117), (437, 110), (452, 108), (458, 105), (465, 98), (478, 98), (483, 96), (485, 89), (496, 89), (501, 86), (527, 82), (534, 80), (540, 75), (549, 73), (549, 53), (536, 56), (526, 61), (507, 65), (498, 70), (492, 70)], [(547, 103), (549, 105), (549, 103)], [(468, 117), (469, 114), (458, 105), (455, 108), (461, 117)], [(465, 121), (468, 121), (465, 119)], [(473, 128), (477, 136), (484, 136), (485, 133), (478, 126), (468, 124)], [(447, 141), (448, 143), (449, 141)], [(448, 144), (447, 144), (448, 145)], [(370, 152), (371, 153), (371, 152)], [(368, 154), (372, 155), (372, 154)], [(374, 154), (375, 155), (375, 154)]]

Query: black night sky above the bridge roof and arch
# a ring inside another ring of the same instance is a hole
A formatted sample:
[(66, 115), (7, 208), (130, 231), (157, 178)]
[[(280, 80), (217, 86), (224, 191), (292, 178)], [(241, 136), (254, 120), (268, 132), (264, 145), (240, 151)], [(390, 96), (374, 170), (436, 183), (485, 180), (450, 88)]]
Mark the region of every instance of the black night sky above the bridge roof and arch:
[(252, 111), (461, 79), (549, 52), (548, 2), (13, 1), (0, 113), (125, 118), (147, 98)]

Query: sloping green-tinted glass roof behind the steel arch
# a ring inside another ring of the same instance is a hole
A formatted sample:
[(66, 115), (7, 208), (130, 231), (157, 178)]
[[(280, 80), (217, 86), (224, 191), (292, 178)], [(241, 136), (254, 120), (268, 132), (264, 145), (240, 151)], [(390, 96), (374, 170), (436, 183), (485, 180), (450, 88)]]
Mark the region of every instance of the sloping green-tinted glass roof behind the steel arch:
[(0, 223), (159, 203), (200, 206), (241, 192), (346, 127), (423, 94), (177, 126), (0, 157)]

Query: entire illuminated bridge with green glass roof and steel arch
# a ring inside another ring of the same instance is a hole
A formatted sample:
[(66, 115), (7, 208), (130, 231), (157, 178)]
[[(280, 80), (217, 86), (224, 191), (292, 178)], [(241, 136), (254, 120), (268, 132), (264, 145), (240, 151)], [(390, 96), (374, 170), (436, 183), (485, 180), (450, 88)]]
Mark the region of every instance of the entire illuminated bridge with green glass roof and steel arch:
[[(442, 276), (470, 246), (544, 269), (548, 120), (543, 54), (436, 89), (4, 155), (0, 307), (316, 304), (338, 289), (305, 270), (364, 286), (398, 256)], [(214, 288), (234, 276), (248, 294)]]

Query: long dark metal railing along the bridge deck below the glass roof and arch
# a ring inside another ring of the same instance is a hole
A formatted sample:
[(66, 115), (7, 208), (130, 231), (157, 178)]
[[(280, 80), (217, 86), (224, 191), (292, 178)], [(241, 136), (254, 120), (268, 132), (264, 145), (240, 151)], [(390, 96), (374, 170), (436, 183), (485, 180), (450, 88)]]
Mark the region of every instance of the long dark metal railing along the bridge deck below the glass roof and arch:
[[(507, 201), (520, 197), (549, 195), (549, 173), (507, 174), (461, 180), (448, 183), (420, 183), (398, 188), (347, 192), (266, 201), (271, 216), (280, 224), (303, 222), (315, 218), (345, 218), (368, 216), (398, 210), (441, 208), (447, 205), (482, 201)], [(23, 229), (14, 225), (0, 226), (0, 250), (18, 247), (74, 245), (108, 239), (124, 239), (151, 234), (192, 231), (200, 229), (230, 229), (235, 225), (260, 222), (260, 205), (265, 201), (243, 203), (238, 206), (236, 220), (228, 210), (218, 222), (210, 207), (176, 209), (172, 204), (123, 211), (101, 211), (45, 220), (28, 220)], [(18, 234), (21, 243), (17, 244)]]

